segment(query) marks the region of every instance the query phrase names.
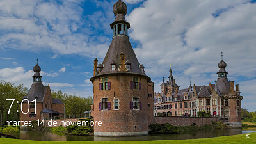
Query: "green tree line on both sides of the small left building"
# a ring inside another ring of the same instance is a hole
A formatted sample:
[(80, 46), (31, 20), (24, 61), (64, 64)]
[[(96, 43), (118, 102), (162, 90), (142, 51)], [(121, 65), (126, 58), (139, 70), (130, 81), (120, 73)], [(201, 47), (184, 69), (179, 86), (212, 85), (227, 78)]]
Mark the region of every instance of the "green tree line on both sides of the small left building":
[[(23, 97), (28, 94), (28, 88), (24, 84), (15, 86), (13, 83), (0, 81), (0, 125), (3, 126), (6, 120), (19, 121), (20, 120), (20, 102)], [(52, 91), (53, 99), (61, 99), (65, 104), (65, 117), (66, 118), (78, 118), (83, 117), (83, 112), (90, 110), (90, 104), (93, 102), (93, 98), (80, 97), (76, 94), (68, 95), (67, 93), (61, 92), (61, 90), (54, 92)], [(15, 99), (10, 114), (8, 114), (9, 108), (12, 101), (6, 99)], [(17, 103), (19, 101), (19, 103)], [(19, 112), (17, 112), (19, 110)]]

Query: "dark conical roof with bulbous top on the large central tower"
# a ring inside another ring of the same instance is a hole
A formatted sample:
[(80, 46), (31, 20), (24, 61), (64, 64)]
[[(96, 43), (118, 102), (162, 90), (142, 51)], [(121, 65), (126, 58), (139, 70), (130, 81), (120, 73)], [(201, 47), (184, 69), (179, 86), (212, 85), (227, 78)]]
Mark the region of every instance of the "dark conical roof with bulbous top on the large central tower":
[[(148, 82), (151, 80), (144, 72), (144, 66), (140, 65), (132, 45), (129, 42), (129, 36), (127, 35), (127, 29), (129, 29), (130, 24), (126, 22), (125, 15), (127, 13), (126, 4), (122, 1), (117, 1), (113, 6), (113, 12), (116, 15), (115, 21), (110, 24), (111, 29), (124, 30), (123, 33), (115, 33), (112, 38), (112, 42), (109, 46), (108, 52), (102, 62), (102, 67), (97, 71), (97, 75), (91, 78), (91, 81), (97, 76), (102, 76), (104, 74), (139, 74), (145, 76)], [(118, 24), (118, 25), (115, 25)], [(115, 28), (113, 26), (115, 25)], [(121, 26), (126, 26), (126, 28)], [(118, 27), (120, 26), (120, 27)], [(122, 31), (123, 31), (122, 30)], [(124, 58), (121, 60), (121, 57)], [(100, 65), (100, 64), (99, 64)], [(111, 65), (115, 65), (115, 70), (111, 68)], [(122, 67), (121, 67), (122, 65)], [(127, 68), (129, 66), (129, 68)]]

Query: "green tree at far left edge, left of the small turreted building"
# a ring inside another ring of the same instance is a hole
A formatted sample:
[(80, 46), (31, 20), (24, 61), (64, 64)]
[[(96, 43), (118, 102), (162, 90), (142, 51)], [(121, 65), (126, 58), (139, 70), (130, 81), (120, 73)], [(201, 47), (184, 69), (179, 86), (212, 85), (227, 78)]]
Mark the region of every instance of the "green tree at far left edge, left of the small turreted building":
[[(25, 88), (23, 84), (14, 86), (12, 83), (0, 81), (0, 113), (2, 126), (4, 125), (4, 114), (6, 114), (5, 120), (8, 120), (8, 118), (12, 118), (12, 120), (20, 119), (20, 113), (17, 113), (17, 109), (20, 109), (20, 105), (17, 104), (17, 101), (21, 102), (22, 97), (27, 95), (27, 92), (28, 88)], [(6, 99), (15, 99), (10, 114), (8, 114), (8, 110), (12, 101), (7, 101)]]

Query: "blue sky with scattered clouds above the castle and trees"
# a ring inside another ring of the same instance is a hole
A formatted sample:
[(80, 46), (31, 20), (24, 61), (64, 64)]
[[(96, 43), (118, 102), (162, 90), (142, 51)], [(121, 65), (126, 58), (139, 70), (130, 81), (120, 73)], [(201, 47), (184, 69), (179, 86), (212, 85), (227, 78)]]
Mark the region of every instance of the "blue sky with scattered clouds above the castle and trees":
[[(93, 60), (113, 35), (116, 1), (0, 1), (0, 79), (31, 86), (38, 58), (52, 90), (93, 95)], [(159, 92), (161, 77), (181, 88), (214, 83), (218, 63), (240, 85), (243, 108), (256, 110), (255, 1), (126, 0), (129, 38)]]

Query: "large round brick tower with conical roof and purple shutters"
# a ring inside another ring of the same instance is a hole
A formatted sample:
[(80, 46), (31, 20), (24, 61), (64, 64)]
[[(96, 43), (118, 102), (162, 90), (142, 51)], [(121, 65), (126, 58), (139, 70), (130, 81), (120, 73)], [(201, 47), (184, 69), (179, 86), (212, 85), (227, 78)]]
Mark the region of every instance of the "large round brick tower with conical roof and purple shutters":
[(145, 74), (129, 42), (127, 6), (119, 0), (110, 24), (113, 40), (102, 63), (94, 60), (92, 116), (95, 136), (139, 136), (148, 134), (154, 118), (154, 83)]

